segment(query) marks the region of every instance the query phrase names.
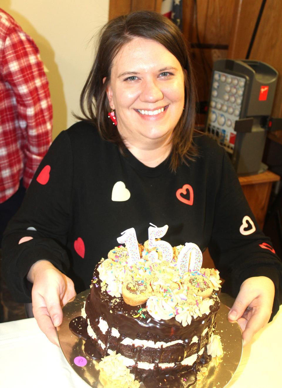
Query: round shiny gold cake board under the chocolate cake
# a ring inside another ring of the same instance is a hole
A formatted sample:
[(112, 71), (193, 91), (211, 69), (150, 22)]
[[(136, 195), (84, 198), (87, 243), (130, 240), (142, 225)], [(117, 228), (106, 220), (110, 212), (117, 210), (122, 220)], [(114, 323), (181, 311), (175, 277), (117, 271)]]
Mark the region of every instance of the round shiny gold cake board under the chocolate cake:
[[(90, 292), (90, 289), (75, 296), (63, 307), (63, 322), (57, 329), (59, 344), (66, 360), (72, 369), (88, 385), (93, 388), (104, 388), (99, 381), (99, 362), (92, 360), (84, 353), (84, 340), (71, 333), (69, 329), (70, 321), (81, 315), (81, 308)], [(219, 299), (221, 296), (219, 296)], [(193, 388), (224, 388), (232, 379), (242, 356), (243, 341), (240, 326), (237, 322), (230, 323), (227, 319), (228, 307), (221, 303), (216, 315), (216, 330), (214, 334), (219, 334), (223, 345), (223, 356), (221, 360), (212, 359), (207, 365), (207, 374), (197, 381)], [(76, 359), (77, 364), (74, 360)], [(80, 362), (81, 361), (81, 362)], [(87, 361), (86, 365), (83, 365)], [(79, 366), (79, 364), (83, 366)], [(140, 388), (144, 388), (141, 383)]]

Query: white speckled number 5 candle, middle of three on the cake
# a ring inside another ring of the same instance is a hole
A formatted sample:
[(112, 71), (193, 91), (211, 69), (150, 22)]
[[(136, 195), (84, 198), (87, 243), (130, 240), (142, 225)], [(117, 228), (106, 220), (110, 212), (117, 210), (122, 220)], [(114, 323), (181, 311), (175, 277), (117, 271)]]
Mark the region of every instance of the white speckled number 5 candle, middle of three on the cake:
[[(156, 225), (153, 225), (152, 223), (150, 223), (150, 225), (152, 226), (150, 226), (148, 229), (149, 248), (157, 248), (158, 250), (162, 251), (162, 260), (171, 262), (173, 257), (173, 250), (172, 250), (171, 244), (162, 240), (155, 241), (155, 239), (159, 239), (160, 237), (163, 237), (169, 227), (165, 225), (162, 228), (158, 228), (156, 227)], [(152, 262), (155, 260), (155, 255), (153, 252), (149, 253), (149, 258)]]

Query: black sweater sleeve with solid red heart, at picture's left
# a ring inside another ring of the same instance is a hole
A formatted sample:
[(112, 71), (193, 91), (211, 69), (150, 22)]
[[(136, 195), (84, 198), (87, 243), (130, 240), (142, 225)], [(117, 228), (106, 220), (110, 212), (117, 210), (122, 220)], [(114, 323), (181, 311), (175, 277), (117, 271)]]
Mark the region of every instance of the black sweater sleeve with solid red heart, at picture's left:
[[(66, 273), (71, 218), (73, 158), (70, 138), (61, 132), (40, 163), (21, 208), (10, 220), (2, 241), (3, 272), (14, 298), (31, 301), (26, 275), (33, 263), (49, 260)], [(26, 241), (28, 240), (28, 241)]]

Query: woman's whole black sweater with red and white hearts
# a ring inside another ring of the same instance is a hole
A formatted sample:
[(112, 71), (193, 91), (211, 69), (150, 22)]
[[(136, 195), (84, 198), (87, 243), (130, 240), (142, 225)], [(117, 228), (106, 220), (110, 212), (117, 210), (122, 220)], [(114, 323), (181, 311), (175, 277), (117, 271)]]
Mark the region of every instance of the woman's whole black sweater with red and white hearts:
[[(77, 293), (83, 291), (121, 232), (134, 227), (143, 243), (151, 222), (169, 226), (162, 239), (172, 246), (208, 247), (233, 296), (248, 277), (270, 277), (274, 315), (282, 302), (282, 263), (259, 230), (226, 152), (205, 135), (195, 135), (194, 142), (198, 156), (172, 173), (169, 159), (151, 168), (129, 151), (122, 156), (90, 124), (78, 122), (61, 132), (3, 240), (5, 278), (15, 298), (31, 300), (26, 274), (40, 259), (67, 274)], [(33, 239), (18, 244), (24, 236)]]

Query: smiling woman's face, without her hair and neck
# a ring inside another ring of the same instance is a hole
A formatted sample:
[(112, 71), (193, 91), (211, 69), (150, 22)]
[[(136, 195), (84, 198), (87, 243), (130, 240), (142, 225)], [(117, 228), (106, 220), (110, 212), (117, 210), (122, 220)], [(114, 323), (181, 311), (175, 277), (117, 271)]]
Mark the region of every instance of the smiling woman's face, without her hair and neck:
[(171, 139), (183, 113), (183, 70), (163, 45), (135, 38), (113, 60), (107, 95), (127, 147), (150, 149)]

